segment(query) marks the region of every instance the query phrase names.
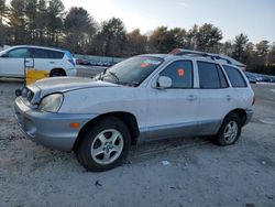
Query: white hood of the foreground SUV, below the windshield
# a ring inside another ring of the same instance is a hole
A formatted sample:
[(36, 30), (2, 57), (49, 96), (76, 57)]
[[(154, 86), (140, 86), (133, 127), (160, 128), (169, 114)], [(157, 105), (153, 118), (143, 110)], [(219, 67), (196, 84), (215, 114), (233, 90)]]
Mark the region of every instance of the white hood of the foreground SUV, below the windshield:
[(36, 83), (28, 86), (36, 94), (40, 90), (40, 97), (53, 92), (66, 92), (69, 90), (95, 88), (95, 87), (116, 87), (118, 85), (101, 80), (92, 80), (90, 78), (81, 77), (53, 77), (37, 80)]

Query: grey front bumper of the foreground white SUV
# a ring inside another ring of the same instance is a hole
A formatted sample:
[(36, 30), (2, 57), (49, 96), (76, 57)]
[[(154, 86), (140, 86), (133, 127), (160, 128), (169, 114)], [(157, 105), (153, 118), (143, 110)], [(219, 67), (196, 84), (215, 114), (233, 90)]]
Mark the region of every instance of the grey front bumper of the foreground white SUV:
[[(97, 115), (52, 113), (32, 109), (21, 97), (15, 99), (15, 118), (22, 131), (32, 141), (50, 149), (70, 151), (80, 129)], [(70, 128), (72, 122), (80, 127)]]

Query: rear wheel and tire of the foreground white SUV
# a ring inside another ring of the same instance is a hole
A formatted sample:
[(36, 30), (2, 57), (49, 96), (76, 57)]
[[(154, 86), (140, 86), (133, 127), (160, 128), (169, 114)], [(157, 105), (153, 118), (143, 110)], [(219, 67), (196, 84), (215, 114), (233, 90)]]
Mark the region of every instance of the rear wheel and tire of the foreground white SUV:
[(216, 137), (216, 143), (221, 146), (234, 144), (242, 131), (241, 119), (237, 113), (230, 113), (223, 120)]

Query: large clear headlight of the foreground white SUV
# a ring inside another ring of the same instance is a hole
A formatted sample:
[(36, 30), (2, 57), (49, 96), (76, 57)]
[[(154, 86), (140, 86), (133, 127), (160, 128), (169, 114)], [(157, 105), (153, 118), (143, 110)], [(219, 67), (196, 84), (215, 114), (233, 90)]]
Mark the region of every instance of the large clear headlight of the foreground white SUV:
[(62, 106), (62, 94), (48, 95), (42, 99), (38, 109), (47, 112), (57, 112)]

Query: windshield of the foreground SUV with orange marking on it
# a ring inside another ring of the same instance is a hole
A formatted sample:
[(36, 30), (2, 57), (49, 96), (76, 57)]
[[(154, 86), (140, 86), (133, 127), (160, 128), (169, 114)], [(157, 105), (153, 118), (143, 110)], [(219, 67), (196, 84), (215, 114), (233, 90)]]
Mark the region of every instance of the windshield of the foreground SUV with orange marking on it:
[(98, 78), (114, 84), (139, 86), (162, 63), (163, 59), (158, 57), (131, 57), (108, 68)]

